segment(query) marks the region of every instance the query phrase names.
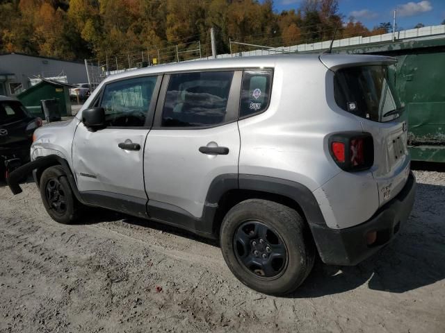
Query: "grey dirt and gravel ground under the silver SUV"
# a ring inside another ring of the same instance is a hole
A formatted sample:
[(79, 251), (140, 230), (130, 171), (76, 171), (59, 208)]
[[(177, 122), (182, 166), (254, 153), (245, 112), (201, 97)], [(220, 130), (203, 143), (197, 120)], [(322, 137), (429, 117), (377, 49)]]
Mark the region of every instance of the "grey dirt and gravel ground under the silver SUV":
[(288, 298), (244, 287), (204, 239), (105, 211), (60, 225), (32, 182), (0, 185), (0, 332), (445, 332), (445, 173), (416, 177), (393, 244), (317, 263)]

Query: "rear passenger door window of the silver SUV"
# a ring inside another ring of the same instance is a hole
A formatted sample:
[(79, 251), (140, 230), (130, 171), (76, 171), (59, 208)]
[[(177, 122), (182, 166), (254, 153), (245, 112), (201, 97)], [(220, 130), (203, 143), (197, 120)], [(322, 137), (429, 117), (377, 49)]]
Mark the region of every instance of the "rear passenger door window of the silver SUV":
[(200, 127), (224, 123), (233, 76), (233, 71), (172, 74), (161, 126)]

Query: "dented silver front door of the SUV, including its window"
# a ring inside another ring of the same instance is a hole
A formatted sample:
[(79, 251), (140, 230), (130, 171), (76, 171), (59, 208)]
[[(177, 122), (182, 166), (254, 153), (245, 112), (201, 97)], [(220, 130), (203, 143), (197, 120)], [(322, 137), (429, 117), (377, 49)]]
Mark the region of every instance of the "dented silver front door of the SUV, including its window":
[(144, 146), (160, 84), (158, 76), (116, 80), (92, 103), (104, 108), (106, 128), (91, 131), (80, 123), (72, 146), (77, 186), (86, 200), (104, 207), (119, 200), (145, 206)]

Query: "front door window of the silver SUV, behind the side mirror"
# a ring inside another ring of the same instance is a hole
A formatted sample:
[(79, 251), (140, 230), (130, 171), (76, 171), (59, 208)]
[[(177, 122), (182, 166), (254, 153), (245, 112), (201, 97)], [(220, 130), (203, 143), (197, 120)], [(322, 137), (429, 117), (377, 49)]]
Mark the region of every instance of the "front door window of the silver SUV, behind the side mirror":
[(107, 126), (144, 126), (157, 76), (131, 78), (105, 86), (100, 106)]

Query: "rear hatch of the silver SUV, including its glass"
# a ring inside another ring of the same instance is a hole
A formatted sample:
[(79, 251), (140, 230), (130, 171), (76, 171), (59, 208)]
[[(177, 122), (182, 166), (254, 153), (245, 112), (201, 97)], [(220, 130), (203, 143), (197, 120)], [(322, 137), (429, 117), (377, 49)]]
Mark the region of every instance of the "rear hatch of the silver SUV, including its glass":
[[(360, 61), (356, 59), (361, 58)], [(348, 56), (344, 57), (348, 60)], [(323, 61), (323, 60), (322, 60)], [(407, 115), (395, 94), (396, 60), (355, 56), (352, 63), (333, 65), (334, 98), (355, 114), (364, 133), (371, 133), (374, 163), (371, 171), (379, 190), (380, 206), (403, 189), (410, 173)]]

